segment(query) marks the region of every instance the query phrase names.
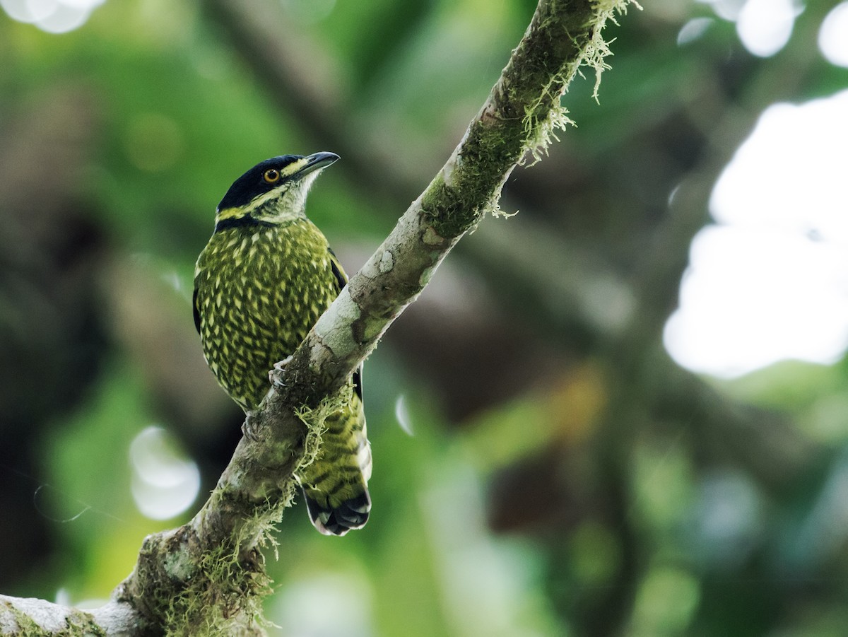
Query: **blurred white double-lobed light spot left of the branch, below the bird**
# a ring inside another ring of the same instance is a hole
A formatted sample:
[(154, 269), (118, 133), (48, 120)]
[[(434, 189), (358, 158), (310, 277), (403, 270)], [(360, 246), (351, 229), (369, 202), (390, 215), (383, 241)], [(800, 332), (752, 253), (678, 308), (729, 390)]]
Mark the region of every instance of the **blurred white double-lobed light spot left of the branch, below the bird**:
[(198, 497), (200, 471), (162, 427), (146, 427), (130, 444), (131, 491), (138, 510), (153, 520), (178, 516)]

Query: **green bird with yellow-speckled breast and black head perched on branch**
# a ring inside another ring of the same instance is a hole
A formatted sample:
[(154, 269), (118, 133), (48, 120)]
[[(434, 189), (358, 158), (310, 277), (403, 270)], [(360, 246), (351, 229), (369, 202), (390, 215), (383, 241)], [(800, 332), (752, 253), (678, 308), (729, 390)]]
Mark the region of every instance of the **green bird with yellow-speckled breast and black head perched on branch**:
[[(303, 341), (348, 279), (326, 237), (306, 218), (315, 177), (337, 154), (282, 155), (235, 182), (215, 212), (215, 232), (194, 271), (194, 323), (218, 382), (245, 413), (256, 410), (268, 373)], [(349, 404), (329, 416), (321, 452), (297, 478), (322, 534), (361, 528), (371, 511), (371, 446), (362, 375)]]

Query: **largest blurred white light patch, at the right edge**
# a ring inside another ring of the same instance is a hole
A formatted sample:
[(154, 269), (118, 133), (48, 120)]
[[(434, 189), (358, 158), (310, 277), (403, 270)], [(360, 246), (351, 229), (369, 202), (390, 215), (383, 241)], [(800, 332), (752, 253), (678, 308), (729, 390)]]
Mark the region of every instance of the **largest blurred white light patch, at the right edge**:
[(848, 91), (774, 104), (726, 166), (693, 240), (665, 343), (681, 365), (733, 377), (848, 346)]

